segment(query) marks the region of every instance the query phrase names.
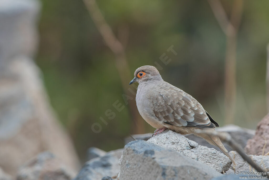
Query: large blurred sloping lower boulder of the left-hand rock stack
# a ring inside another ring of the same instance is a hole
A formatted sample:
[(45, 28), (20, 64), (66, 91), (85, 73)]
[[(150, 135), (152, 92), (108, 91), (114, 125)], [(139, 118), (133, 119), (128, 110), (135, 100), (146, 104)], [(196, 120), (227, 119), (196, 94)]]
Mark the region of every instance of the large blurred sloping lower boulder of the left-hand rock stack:
[(44, 149), (74, 170), (80, 167), (73, 143), (49, 104), (40, 71), (25, 56), (0, 70), (0, 147), (0, 167), (12, 176)]

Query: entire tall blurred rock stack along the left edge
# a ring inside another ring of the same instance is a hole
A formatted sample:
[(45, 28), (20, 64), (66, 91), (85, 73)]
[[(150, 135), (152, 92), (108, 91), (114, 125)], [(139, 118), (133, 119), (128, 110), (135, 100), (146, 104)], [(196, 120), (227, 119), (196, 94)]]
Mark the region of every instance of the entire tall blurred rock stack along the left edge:
[(39, 8), (36, 0), (0, 1), (0, 167), (12, 176), (20, 165), (46, 150), (69, 167), (80, 167), (31, 59), (38, 42)]

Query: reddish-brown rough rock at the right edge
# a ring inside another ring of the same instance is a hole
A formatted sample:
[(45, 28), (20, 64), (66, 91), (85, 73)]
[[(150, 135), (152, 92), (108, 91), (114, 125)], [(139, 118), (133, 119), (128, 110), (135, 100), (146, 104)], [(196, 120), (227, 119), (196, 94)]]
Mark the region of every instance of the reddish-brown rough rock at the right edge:
[[(265, 141), (267, 144), (263, 150)], [(264, 155), (269, 152), (269, 114), (258, 123), (256, 133), (252, 139), (247, 141), (245, 151), (252, 155)]]

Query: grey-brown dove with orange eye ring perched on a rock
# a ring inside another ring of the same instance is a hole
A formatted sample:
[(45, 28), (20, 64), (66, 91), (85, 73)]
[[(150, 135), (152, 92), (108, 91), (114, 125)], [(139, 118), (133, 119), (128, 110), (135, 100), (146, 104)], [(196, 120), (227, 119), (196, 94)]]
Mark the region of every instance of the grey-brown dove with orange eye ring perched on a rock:
[(137, 109), (143, 119), (156, 128), (153, 135), (166, 129), (183, 135), (194, 134), (219, 147), (235, 164), (219, 137), (197, 133), (201, 129), (215, 131), (220, 126), (196, 99), (164, 81), (154, 66), (137, 68), (129, 85), (134, 82), (139, 83), (136, 93)]

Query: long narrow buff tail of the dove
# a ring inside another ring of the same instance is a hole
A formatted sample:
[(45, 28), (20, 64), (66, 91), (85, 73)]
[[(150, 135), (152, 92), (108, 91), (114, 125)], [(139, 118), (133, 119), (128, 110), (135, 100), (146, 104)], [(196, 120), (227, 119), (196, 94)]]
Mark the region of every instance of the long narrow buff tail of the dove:
[(195, 134), (195, 135), (201, 138), (204, 138), (209, 144), (219, 147), (220, 150), (232, 161), (232, 163), (236, 165), (233, 158), (229, 155), (228, 151), (226, 150), (226, 148), (220, 141), (219, 137), (214, 136), (214, 135), (207, 135), (207, 134)]

